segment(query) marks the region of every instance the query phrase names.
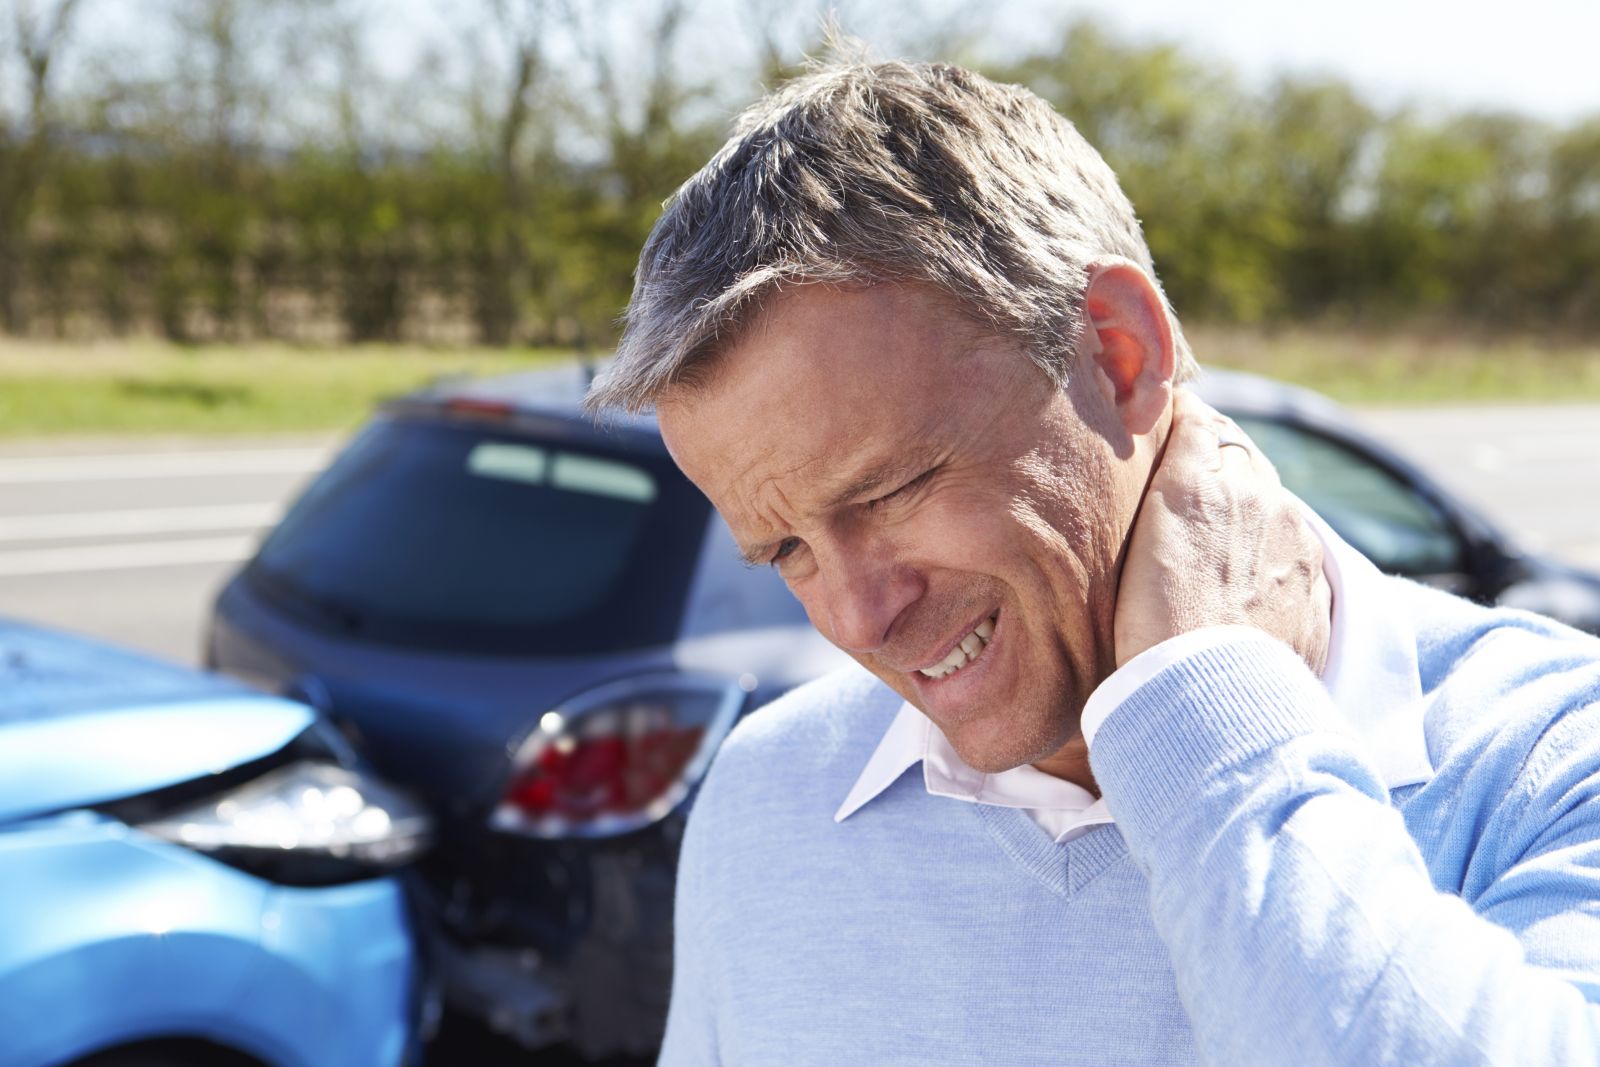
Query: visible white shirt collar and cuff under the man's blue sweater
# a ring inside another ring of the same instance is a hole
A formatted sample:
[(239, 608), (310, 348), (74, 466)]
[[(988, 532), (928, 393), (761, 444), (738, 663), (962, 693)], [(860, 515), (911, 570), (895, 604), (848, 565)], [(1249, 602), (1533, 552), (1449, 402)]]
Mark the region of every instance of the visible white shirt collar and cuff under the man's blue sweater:
[[(1416, 635), (1403, 616), (1387, 609), (1378, 568), (1310, 509), (1306, 518), (1322, 539), (1323, 574), (1333, 590), (1323, 685), (1350, 729), (1366, 744), (1389, 789), (1426, 782), (1434, 776), (1434, 766), (1422, 734)], [(1234, 627), (1192, 630), (1118, 667), (1083, 709), (1085, 741), (1093, 745), (1099, 725), (1141, 685), (1184, 656), (1232, 635)], [(918, 761), (923, 785), (934, 797), (1022, 808), (1056, 841), (1070, 841), (1091, 827), (1112, 822), (1104, 800), (1034, 766), (1022, 765), (998, 774), (974, 771), (955, 753), (944, 733), (909, 702), (901, 705), (834, 819), (842, 822), (854, 814)]]

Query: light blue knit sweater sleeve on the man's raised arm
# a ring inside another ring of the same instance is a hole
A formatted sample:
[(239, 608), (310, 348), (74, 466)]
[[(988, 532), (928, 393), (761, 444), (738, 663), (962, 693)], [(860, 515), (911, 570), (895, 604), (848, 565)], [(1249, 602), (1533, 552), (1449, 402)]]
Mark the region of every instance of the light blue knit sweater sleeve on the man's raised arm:
[(1464, 798), (1538, 822), (1469, 904), (1285, 645), (1232, 637), (1123, 699), (1090, 758), (1206, 1062), (1600, 1064), (1597, 726), (1581, 758), (1552, 742), (1547, 795), (1518, 766)]

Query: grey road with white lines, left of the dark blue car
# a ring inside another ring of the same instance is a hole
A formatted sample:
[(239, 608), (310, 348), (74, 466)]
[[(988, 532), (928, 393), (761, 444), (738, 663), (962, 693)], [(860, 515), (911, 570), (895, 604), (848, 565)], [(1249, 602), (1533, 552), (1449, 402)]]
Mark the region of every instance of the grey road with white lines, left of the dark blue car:
[(0, 446), (0, 613), (198, 662), (218, 587), (334, 445)]

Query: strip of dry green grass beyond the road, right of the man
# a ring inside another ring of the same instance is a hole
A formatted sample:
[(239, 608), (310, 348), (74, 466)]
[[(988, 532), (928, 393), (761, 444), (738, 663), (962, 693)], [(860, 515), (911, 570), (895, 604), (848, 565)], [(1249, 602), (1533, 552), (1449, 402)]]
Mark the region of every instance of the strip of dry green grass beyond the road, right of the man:
[(1282, 378), (1344, 403), (1600, 400), (1600, 342), (1307, 326), (1282, 331), (1200, 328), (1187, 334), (1202, 365)]

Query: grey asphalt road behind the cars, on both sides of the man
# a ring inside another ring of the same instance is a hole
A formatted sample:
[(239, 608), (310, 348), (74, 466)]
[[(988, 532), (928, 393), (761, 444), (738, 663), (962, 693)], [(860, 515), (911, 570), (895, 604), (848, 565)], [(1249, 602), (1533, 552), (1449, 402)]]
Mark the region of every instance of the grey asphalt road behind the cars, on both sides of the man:
[[(1600, 405), (1358, 418), (1526, 545), (1600, 569)], [(198, 662), (216, 589), (336, 445), (0, 446), (0, 614)]]

